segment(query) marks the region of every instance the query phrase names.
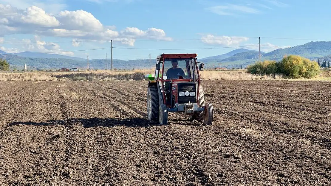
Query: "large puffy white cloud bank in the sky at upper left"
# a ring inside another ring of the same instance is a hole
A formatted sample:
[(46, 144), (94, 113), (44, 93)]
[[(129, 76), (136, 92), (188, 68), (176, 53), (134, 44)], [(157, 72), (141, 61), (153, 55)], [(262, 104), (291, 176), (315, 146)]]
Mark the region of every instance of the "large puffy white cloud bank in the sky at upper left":
[[(0, 0), (1, 1), (1, 0)], [(25, 10), (0, 4), (0, 36), (11, 34), (37, 34), (40, 36), (64, 37), (79, 40), (111, 39), (133, 46), (136, 39), (171, 40), (162, 29), (140, 30), (126, 27), (116, 31), (112, 25), (103, 25), (91, 13), (84, 10), (61, 11), (49, 14), (43, 9), (31, 6)], [(73, 46), (79, 46), (77, 42)]]

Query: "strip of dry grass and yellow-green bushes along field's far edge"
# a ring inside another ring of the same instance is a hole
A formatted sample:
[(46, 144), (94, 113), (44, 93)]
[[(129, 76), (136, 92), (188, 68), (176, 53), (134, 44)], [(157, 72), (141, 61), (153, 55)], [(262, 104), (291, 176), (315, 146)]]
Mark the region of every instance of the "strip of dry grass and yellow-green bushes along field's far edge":
[[(7, 69), (0, 59), (0, 68)], [(8, 70), (8, 69), (7, 69)], [(286, 56), (281, 61), (265, 60), (246, 69), (200, 71), (203, 80), (331, 80), (331, 71), (319, 69), (315, 61), (300, 56)], [(144, 80), (154, 69), (90, 70), (90, 71), (7, 71), (0, 72), (0, 81), (109, 81)]]

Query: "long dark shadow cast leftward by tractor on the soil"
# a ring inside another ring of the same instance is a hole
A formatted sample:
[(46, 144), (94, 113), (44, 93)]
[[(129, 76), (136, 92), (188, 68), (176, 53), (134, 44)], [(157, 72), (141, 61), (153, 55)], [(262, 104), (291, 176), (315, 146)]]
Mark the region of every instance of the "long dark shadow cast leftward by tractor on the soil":
[(70, 118), (67, 120), (49, 120), (47, 122), (13, 122), (9, 126), (15, 125), (33, 125), (33, 126), (52, 126), (52, 125), (64, 125), (66, 127), (72, 127), (75, 125), (82, 125), (85, 128), (93, 127), (152, 127), (160, 126), (156, 122), (149, 121), (147, 118)]

